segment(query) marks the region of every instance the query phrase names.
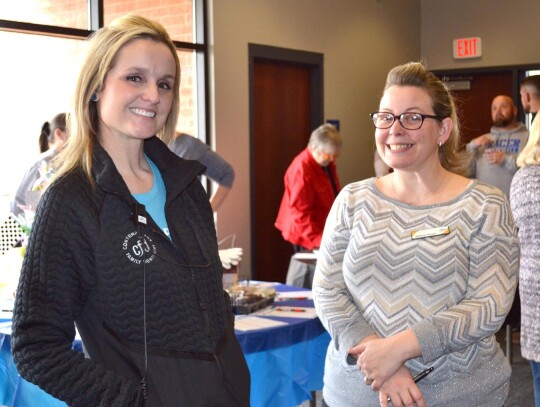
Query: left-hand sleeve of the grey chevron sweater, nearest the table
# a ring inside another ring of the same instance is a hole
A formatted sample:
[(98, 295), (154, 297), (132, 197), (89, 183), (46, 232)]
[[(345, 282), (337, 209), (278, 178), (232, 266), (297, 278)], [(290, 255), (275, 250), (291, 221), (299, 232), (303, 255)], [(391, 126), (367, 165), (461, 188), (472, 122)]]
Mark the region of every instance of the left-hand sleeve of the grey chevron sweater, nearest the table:
[[(343, 360), (348, 350), (375, 333), (349, 295), (343, 278), (343, 259), (351, 237), (353, 209), (347, 205), (349, 187), (336, 198), (328, 215), (313, 280), (315, 309)], [(352, 363), (352, 362), (350, 362)]]

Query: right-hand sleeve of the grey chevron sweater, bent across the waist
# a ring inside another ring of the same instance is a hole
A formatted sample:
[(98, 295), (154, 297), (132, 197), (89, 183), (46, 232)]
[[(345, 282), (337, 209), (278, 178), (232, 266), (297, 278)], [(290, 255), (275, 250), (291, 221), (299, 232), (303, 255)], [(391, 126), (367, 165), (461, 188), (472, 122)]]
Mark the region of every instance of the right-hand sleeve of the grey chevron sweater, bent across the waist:
[(519, 242), (508, 201), (489, 195), (480, 227), (468, 242), (469, 277), (454, 306), (414, 324), (423, 363), (462, 350), (502, 326), (517, 284)]

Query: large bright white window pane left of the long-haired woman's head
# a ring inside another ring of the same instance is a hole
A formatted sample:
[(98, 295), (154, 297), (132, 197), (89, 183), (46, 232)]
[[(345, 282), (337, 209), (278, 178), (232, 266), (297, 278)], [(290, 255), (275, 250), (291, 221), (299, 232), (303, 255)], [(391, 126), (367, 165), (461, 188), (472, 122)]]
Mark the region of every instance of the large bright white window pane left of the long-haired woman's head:
[(6, 137), (0, 151), (0, 195), (6, 202), (39, 154), (42, 124), (69, 109), (84, 41), (0, 31), (0, 44), (5, 60), (12, 61), (0, 64)]

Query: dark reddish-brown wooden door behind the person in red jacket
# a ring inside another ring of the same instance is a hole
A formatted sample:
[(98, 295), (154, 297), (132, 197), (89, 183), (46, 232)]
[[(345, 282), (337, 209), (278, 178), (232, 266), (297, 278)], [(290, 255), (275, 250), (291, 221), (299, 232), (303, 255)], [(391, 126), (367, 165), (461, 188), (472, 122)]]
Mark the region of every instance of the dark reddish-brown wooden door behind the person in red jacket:
[[(250, 72), (251, 275), (262, 281), (285, 282), (294, 253), (274, 222), (285, 171), (322, 122), (322, 84), (317, 79), (322, 56), (317, 54), (313, 63), (311, 53), (276, 53), (270, 47), (262, 53), (268, 50), (270, 58), (252, 59)], [(276, 57), (278, 54), (281, 56)]]

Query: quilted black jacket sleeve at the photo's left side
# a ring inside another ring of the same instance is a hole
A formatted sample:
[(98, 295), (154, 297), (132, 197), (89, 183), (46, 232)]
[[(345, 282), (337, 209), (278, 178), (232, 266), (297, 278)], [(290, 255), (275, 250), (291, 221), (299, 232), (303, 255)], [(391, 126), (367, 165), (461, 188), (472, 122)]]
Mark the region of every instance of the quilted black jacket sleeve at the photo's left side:
[(83, 214), (89, 205), (65, 192), (53, 184), (38, 206), (13, 315), (15, 364), (22, 377), (71, 406), (137, 406), (138, 383), (72, 350), (74, 321), (95, 284), (94, 250), (80, 219), (94, 214)]

